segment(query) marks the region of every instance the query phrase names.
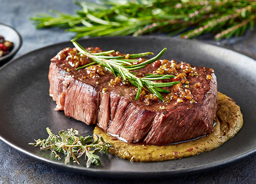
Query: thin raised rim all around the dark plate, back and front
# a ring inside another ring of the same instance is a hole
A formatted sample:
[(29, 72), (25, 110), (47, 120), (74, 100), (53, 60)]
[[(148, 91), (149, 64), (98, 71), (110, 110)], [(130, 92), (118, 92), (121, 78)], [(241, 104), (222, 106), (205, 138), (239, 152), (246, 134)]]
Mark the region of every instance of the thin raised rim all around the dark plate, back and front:
[[(123, 37), (130, 37), (130, 36), (122, 36), (122, 37), (115, 36), (115, 37), (112, 37), (112, 38), (123, 38)], [(109, 37), (102, 37), (102, 38), (109, 38)], [(162, 38), (163, 39), (163, 38), (165, 38), (166, 39), (166, 37), (163, 37), (163, 36), (140, 36), (140, 38), (148, 38), (148, 39), (152, 39), (152, 38)], [(86, 38), (86, 39), (82, 39), (82, 40), (88, 40), (88, 39), (92, 40), (92, 39), (99, 39), (99, 38)], [(182, 39), (179, 39), (179, 38), (168, 38), (168, 39), (182, 40)], [(196, 43), (199, 43), (200, 45), (213, 46), (214, 48), (218, 48), (218, 49), (221, 49), (221, 50), (224, 49), (224, 50), (227, 50), (228, 52), (238, 54), (242, 57), (247, 57), (248, 59), (251, 59), (254, 62), (256, 62), (256, 60), (254, 60), (253, 58), (250, 58), (246, 55), (235, 52), (233, 50), (229, 50), (227, 48), (223, 48), (223, 47), (216, 46), (216, 45), (211, 45), (209, 43), (202, 43), (200, 41), (195, 41), (195, 40), (186, 40), (186, 41), (196, 42)], [(47, 49), (49, 47), (52, 47), (52, 46), (68, 44), (68, 43), (70, 43), (70, 41), (55, 43), (55, 44), (52, 44), (52, 45), (44, 46), (42, 48), (38, 48), (36, 50), (32, 50), (28, 53), (25, 53), (24, 55), (21, 55), (21, 56), (15, 58), (14, 60), (6, 63), (2, 67), (0, 67), (0, 72), (2, 70), (4, 70), (7, 65), (12, 64), (12, 63), (16, 62), (17, 60), (21, 59), (22, 57), (26, 57), (26, 56), (30, 55), (31, 53), (38, 52), (40, 50), (45, 50), (45, 49)], [(165, 177), (173, 177), (174, 175), (186, 175), (186, 174), (195, 174), (195, 173), (199, 173), (199, 172), (200, 173), (201, 172), (207, 172), (209, 170), (220, 169), (220, 168), (226, 167), (227, 165), (231, 165), (233, 163), (239, 162), (240, 160), (243, 160), (243, 159), (253, 155), (256, 152), (256, 148), (254, 148), (254, 149), (251, 149), (251, 150), (247, 151), (246, 153), (242, 153), (240, 155), (228, 158), (224, 162), (223, 161), (221, 161), (221, 162), (218, 161), (218, 162), (214, 162), (214, 163), (204, 165), (204, 166), (200, 166), (200, 167), (198, 166), (198, 167), (190, 167), (190, 168), (185, 168), (185, 169), (168, 170), (168, 171), (158, 171), (158, 170), (156, 170), (154, 172), (152, 172), (152, 171), (151, 172), (148, 172), (148, 171), (143, 172), (142, 171), (140, 173), (129, 171), (129, 174), (127, 175), (127, 172), (125, 172), (125, 171), (116, 172), (116, 171), (111, 171), (111, 170), (101, 170), (101, 169), (97, 169), (97, 168), (95, 169), (95, 168), (76, 167), (76, 166), (73, 166), (73, 165), (67, 165), (67, 164), (64, 164), (64, 163), (56, 162), (56, 161), (44, 158), (42, 156), (36, 155), (35, 153), (32, 153), (28, 150), (22, 149), (21, 147), (17, 146), (16, 144), (10, 143), (8, 140), (3, 138), (2, 135), (0, 135), (0, 140), (3, 143), (7, 144), (9, 147), (13, 148), (14, 150), (17, 150), (17, 151), (21, 152), (22, 154), (24, 154), (24, 155), (26, 155), (30, 158), (33, 158), (35, 160), (38, 160), (40, 162), (47, 163), (48, 165), (52, 165), (54, 167), (61, 168), (61, 169), (66, 169), (66, 170), (69, 170), (71, 172), (78, 172), (78, 173), (82, 173), (82, 174), (86, 174), (86, 175), (93, 175), (93, 176), (100, 176), (100, 177), (111, 177), (111, 178), (130, 178), (130, 175), (133, 175), (134, 178), (146, 178), (146, 177), (147, 178), (149, 178), (149, 177), (150, 178), (160, 178), (160, 177), (165, 178)], [(170, 161), (167, 161), (167, 162), (170, 162)], [(150, 175), (150, 176), (145, 176), (145, 174)]]

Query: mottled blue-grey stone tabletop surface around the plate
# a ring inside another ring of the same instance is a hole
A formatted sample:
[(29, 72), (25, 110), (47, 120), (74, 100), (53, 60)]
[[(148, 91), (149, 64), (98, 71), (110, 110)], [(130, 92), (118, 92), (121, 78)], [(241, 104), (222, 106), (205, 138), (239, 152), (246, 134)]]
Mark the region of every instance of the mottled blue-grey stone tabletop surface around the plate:
[[(23, 55), (37, 48), (69, 41), (73, 33), (63, 29), (36, 30), (29, 18), (49, 9), (73, 13), (78, 7), (70, 0), (0, 0), (0, 22), (19, 31), (23, 45), (17, 55)], [(247, 31), (245, 36), (217, 42), (208, 34), (197, 38), (203, 42), (222, 46), (256, 59), (256, 30)], [(18, 140), (17, 140), (18, 141)], [(156, 168), (157, 169), (157, 168)], [(223, 169), (202, 174), (174, 177), (163, 180), (122, 180), (95, 178), (51, 167), (32, 160), (10, 149), (0, 142), (0, 183), (256, 183), (256, 156), (253, 155)]]

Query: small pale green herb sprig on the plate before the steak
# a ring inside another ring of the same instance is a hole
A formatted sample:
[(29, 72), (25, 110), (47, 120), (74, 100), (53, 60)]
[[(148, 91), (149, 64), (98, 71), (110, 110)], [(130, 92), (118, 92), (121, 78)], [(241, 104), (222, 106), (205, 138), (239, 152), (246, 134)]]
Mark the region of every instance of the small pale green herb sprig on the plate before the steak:
[[(57, 153), (64, 153), (65, 163), (69, 163), (70, 160), (79, 163), (80, 156), (85, 154), (88, 158), (86, 167), (90, 167), (91, 164), (99, 165), (100, 159), (95, 153), (103, 152), (108, 154), (108, 149), (113, 147), (111, 143), (106, 143), (102, 137), (97, 138), (93, 142), (93, 136), (78, 136), (76, 129), (67, 129), (67, 131), (59, 131), (59, 136), (54, 135), (52, 131), (47, 127), (47, 133), (49, 134), (47, 139), (35, 140), (36, 143), (29, 143), (33, 146), (40, 146), (40, 150), (50, 149), (55, 154), (55, 158), (61, 159)], [(90, 143), (90, 144), (89, 144)]]

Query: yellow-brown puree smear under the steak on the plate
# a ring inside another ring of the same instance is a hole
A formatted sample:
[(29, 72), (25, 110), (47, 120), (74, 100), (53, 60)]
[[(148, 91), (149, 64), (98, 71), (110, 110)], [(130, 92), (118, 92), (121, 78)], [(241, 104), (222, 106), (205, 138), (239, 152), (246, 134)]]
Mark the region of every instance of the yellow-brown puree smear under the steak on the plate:
[(125, 143), (105, 133), (99, 127), (95, 127), (93, 134), (98, 134), (104, 140), (113, 144), (114, 148), (109, 150), (109, 153), (113, 155), (133, 162), (158, 162), (194, 156), (213, 150), (232, 138), (242, 128), (243, 122), (240, 107), (235, 105), (231, 98), (218, 92), (218, 109), (213, 132), (193, 141), (156, 146), (142, 143)]

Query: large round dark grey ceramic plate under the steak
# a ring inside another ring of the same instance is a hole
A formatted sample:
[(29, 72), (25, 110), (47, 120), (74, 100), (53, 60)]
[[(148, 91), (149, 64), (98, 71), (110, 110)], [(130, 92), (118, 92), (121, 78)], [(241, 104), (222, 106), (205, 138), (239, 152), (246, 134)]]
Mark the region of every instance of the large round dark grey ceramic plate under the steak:
[(197, 41), (166, 37), (92, 38), (79, 41), (83, 46), (99, 46), (121, 53), (159, 52), (168, 50), (162, 58), (189, 62), (213, 68), (218, 90), (241, 107), (244, 126), (219, 148), (208, 153), (179, 160), (136, 163), (103, 155), (101, 165), (86, 168), (86, 162), (64, 164), (54, 160), (50, 151), (39, 151), (28, 145), (33, 139), (47, 138), (46, 127), (55, 134), (61, 129), (78, 128), (82, 135), (92, 135), (93, 126), (67, 118), (54, 111), (55, 102), (48, 95), (50, 59), (71, 43), (59, 43), (23, 55), (0, 69), (0, 139), (25, 155), (73, 172), (100, 177), (156, 178), (192, 174), (218, 169), (244, 159), (256, 151), (256, 61), (239, 53)]

